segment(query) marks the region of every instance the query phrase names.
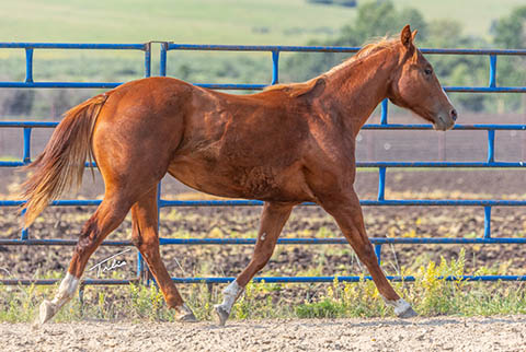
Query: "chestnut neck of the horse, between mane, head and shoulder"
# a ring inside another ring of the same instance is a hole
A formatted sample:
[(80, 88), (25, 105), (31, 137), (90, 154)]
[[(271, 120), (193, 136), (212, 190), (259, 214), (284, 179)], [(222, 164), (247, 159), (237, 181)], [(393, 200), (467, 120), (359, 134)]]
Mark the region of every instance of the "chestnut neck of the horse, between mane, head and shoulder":
[(331, 114), (342, 119), (344, 128), (354, 136), (387, 96), (389, 78), (398, 64), (398, 57), (389, 51), (381, 50), (342, 64), (325, 75), (328, 84), (323, 98), (330, 102)]

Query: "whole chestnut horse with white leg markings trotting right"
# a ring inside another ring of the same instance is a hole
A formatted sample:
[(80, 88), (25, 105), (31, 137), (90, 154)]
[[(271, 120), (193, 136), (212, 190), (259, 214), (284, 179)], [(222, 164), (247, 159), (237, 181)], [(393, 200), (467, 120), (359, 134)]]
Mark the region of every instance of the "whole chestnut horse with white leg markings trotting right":
[(105, 195), (80, 233), (57, 294), (42, 303), (39, 322), (73, 296), (91, 254), (129, 210), (133, 243), (168, 306), (181, 321), (195, 321), (159, 255), (157, 186), (167, 173), (203, 192), (265, 202), (252, 259), (215, 307), (220, 325), (271, 258), (293, 208), (305, 201), (335, 219), (395, 313), (415, 315), (378, 266), (353, 188), (356, 136), (384, 98), (437, 130), (455, 124), (456, 110), (413, 45), (415, 33), (407, 25), (400, 38), (369, 44), (320, 77), (258, 94), (230, 95), (157, 77), (123, 84), (70, 109), (31, 164), (35, 172), (25, 183), (25, 225), (81, 181), (88, 157), (96, 161)]

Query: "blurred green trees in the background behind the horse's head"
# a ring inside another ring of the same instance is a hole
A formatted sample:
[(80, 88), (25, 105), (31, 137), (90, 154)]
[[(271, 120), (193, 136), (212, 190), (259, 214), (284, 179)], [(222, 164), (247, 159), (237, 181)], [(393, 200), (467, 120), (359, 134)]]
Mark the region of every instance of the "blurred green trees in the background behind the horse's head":
[[(335, 38), (310, 42), (321, 46), (361, 46), (371, 37), (386, 33), (397, 35), (405, 24), (418, 30), (416, 43), (425, 48), (526, 48), (526, 5), (493, 21), (489, 39), (462, 33), (461, 23), (454, 20), (426, 21), (414, 8), (398, 10), (392, 1), (365, 2), (357, 8), (356, 20), (343, 28)], [(297, 55), (286, 61), (287, 80), (302, 81), (340, 63), (345, 54)], [(488, 56), (427, 56), (444, 85), (487, 86)], [(498, 85), (526, 85), (526, 57), (499, 57)], [(524, 94), (523, 94), (524, 95)], [(472, 112), (516, 112), (524, 98), (521, 94), (455, 94), (456, 103)]]

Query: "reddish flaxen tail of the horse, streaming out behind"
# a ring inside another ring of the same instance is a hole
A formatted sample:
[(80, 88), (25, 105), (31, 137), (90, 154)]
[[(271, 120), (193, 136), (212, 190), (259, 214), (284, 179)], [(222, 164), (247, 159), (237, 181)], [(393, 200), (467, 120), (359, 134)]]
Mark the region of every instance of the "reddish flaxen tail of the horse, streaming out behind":
[(26, 166), (35, 172), (22, 185), (25, 227), (64, 190), (81, 185), (85, 160), (93, 160), (91, 138), (106, 98), (107, 93), (96, 95), (67, 112), (44, 152)]

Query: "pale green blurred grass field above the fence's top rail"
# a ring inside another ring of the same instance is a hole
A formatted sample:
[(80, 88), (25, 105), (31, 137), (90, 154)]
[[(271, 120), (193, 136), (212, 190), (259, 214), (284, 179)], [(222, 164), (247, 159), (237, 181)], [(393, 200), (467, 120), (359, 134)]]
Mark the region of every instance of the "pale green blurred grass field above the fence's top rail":
[[(362, 2), (363, 0), (359, 0)], [(524, 0), (398, 0), (425, 19), (462, 22), (485, 36), (494, 19)], [(2, 1), (0, 42), (302, 45), (336, 34), (356, 10), (305, 0), (19, 0)]]

